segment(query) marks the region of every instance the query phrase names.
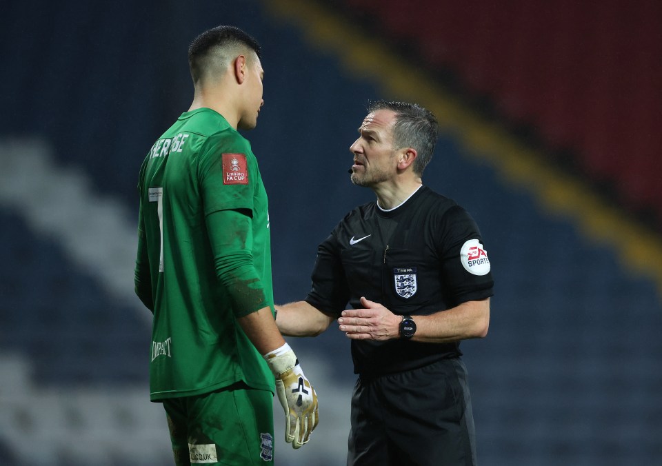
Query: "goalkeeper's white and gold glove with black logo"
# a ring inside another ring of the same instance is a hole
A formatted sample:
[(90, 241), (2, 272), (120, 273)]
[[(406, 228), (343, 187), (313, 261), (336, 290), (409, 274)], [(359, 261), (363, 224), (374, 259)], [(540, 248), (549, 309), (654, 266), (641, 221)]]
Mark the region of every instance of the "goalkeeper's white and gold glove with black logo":
[(301, 448), (319, 422), (317, 393), (287, 343), (264, 358), (276, 378), (276, 393), (285, 411), (285, 442)]

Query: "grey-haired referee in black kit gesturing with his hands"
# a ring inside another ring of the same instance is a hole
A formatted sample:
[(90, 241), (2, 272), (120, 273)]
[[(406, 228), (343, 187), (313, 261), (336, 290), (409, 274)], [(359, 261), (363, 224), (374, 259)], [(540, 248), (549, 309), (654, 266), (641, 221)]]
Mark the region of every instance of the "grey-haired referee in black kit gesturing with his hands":
[(370, 104), (350, 172), (377, 201), (319, 245), (305, 301), (278, 306), (284, 335), (337, 321), (352, 341), (348, 465), (477, 464), (459, 342), (487, 334), (493, 281), (472, 217), (423, 186), (438, 134), (419, 105)]

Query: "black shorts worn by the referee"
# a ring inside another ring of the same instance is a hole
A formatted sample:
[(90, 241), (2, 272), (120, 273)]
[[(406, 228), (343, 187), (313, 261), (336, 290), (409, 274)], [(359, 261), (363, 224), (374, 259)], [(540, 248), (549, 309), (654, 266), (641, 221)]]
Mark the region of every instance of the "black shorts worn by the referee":
[(475, 466), (475, 437), (459, 358), (354, 386), (348, 466)]

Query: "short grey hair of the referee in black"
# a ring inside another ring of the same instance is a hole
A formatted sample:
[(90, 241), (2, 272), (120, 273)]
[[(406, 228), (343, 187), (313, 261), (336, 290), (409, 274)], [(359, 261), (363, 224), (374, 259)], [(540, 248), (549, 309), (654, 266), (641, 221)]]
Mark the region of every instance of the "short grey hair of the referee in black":
[(418, 154), (414, 160), (414, 173), (419, 176), (430, 163), (434, 146), (439, 139), (439, 123), (437, 117), (417, 103), (370, 101), (368, 112), (377, 110), (392, 110), (396, 122), (393, 125), (393, 145), (396, 149), (414, 148)]

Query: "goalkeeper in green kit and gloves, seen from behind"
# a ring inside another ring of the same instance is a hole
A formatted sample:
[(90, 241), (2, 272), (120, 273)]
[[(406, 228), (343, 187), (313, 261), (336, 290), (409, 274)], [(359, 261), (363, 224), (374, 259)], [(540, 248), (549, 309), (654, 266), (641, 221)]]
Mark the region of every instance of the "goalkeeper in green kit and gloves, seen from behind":
[(139, 176), (136, 293), (154, 314), (150, 398), (177, 466), (273, 464), (273, 395), (285, 440), (308, 442), (317, 394), (274, 323), (267, 194), (250, 144), (263, 104), (258, 43), (219, 26), (188, 53), (191, 108)]

